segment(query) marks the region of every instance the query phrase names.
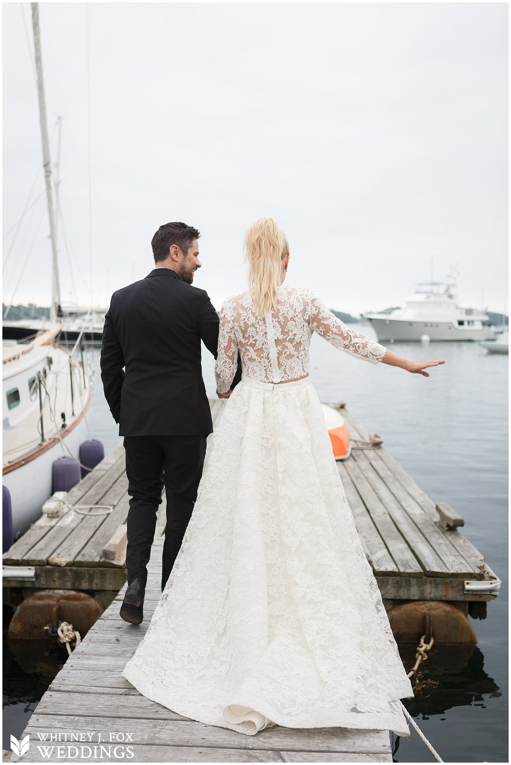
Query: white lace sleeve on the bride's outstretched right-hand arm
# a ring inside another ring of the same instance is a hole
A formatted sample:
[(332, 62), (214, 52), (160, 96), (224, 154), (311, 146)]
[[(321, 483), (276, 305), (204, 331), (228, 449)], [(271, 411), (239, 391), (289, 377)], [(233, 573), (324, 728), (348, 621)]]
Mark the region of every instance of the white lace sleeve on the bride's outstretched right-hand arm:
[(386, 347), (377, 343), (376, 340), (371, 340), (367, 335), (358, 334), (347, 327), (313, 293), (311, 293), (310, 318), (312, 329), (328, 340), (328, 343), (332, 343), (335, 348), (371, 364), (377, 364), (385, 356)]

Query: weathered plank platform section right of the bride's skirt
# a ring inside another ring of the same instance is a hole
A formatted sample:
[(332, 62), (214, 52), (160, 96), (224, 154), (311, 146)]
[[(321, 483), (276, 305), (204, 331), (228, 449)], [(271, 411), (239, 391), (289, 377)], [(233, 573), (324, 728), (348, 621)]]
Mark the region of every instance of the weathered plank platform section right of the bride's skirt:
[[(369, 441), (367, 429), (341, 411), (350, 438)], [(383, 446), (354, 448), (337, 464), (383, 599), (470, 604), (496, 597), (500, 580), (458, 530), (464, 520), (431, 500)]]

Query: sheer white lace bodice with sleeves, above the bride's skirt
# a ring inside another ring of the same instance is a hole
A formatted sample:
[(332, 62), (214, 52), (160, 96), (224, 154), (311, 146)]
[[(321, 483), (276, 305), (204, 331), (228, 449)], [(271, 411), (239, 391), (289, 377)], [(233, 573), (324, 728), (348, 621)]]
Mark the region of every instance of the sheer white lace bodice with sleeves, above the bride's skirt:
[(258, 316), (248, 292), (228, 298), (220, 311), (218, 390), (231, 386), (241, 353), (244, 377), (260, 382), (286, 382), (309, 374), (312, 332), (357, 359), (377, 364), (386, 347), (347, 327), (309, 289), (281, 285), (273, 314)]

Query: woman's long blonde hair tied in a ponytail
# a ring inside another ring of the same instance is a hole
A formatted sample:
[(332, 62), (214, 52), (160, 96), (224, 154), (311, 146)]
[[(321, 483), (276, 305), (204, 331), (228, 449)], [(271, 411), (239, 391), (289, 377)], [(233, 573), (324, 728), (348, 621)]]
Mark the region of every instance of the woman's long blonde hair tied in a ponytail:
[(264, 316), (277, 304), (277, 287), (283, 259), (289, 255), (286, 234), (273, 218), (260, 218), (245, 234), (248, 291), (257, 314)]

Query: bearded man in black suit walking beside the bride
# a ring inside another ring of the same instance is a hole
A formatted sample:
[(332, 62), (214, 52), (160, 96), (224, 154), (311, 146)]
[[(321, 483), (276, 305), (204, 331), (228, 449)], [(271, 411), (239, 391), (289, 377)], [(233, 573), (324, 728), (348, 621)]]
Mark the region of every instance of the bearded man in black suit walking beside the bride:
[[(128, 588), (120, 613), (134, 624), (143, 619), (146, 567), (163, 486), (162, 591), (192, 515), (212, 432), (201, 340), (216, 358), (219, 320), (207, 293), (191, 286), (201, 267), (199, 236), (186, 223), (160, 226), (151, 241), (154, 270), (114, 292), (105, 316), (101, 377), (119, 435), (125, 437), (131, 497)], [(233, 387), (240, 377), (238, 369)]]

